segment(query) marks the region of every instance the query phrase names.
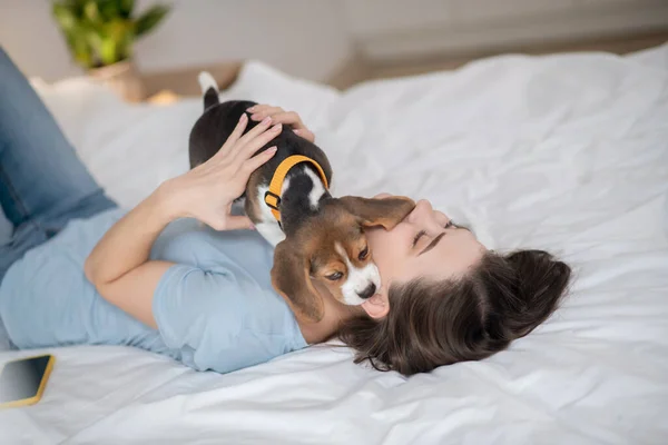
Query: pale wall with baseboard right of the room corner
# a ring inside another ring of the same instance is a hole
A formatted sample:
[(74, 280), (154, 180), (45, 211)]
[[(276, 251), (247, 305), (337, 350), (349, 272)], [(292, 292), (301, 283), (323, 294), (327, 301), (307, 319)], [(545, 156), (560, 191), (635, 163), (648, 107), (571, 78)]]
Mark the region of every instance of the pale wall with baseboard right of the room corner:
[(668, 30), (668, 0), (343, 0), (352, 39), (371, 60)]

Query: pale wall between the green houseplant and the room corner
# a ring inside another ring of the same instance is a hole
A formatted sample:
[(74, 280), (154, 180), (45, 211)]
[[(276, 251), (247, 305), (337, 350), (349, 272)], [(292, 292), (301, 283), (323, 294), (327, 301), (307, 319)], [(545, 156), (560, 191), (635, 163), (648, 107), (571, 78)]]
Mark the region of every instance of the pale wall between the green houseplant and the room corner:
[(163, 27), (139, 42), (138, 61), (155, 71), (255, 58), (324, 80), (350, 55), (343, 21), (336, 0), (181, 0)]

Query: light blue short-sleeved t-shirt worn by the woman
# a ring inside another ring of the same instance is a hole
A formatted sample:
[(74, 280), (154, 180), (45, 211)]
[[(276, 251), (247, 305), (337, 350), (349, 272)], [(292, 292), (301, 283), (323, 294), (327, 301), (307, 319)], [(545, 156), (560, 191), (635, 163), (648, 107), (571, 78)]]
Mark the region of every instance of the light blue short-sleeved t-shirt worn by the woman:
[(154, 294), (157, 330), (107, 303), (86, 279), (84, 261), (122, 215), (72, 220), (9, 268), (0, 317), (17, 347), (130, 345), (227, 373), (306, 346), (272, 287), (273, 249), (255, 231), (215, 231), (193, 219), (165, 228), (150, 257), (176, 265)]

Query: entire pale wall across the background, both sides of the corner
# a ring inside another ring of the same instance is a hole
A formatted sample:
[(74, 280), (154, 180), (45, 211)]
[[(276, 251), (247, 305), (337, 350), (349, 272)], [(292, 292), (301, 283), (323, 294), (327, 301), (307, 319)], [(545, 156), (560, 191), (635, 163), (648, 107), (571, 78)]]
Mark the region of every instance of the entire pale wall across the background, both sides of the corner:
[[(354, 53), (372, 60), (493, 51), (668, 29), (668, 0), (138, 0), (174, 3), (137, 44), (145, 72), (256, 58), (324, 81)], [(50, 0), (0, 0), (0, 43), (29, 76), (79, 72)]]

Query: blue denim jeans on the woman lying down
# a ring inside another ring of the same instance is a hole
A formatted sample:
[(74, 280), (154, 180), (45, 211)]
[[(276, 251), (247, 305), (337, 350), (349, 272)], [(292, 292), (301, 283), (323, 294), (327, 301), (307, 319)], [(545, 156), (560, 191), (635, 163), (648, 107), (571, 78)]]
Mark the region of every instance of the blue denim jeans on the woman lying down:
[(116, 207), (0, 47), (0, 281), (70, 219)]

